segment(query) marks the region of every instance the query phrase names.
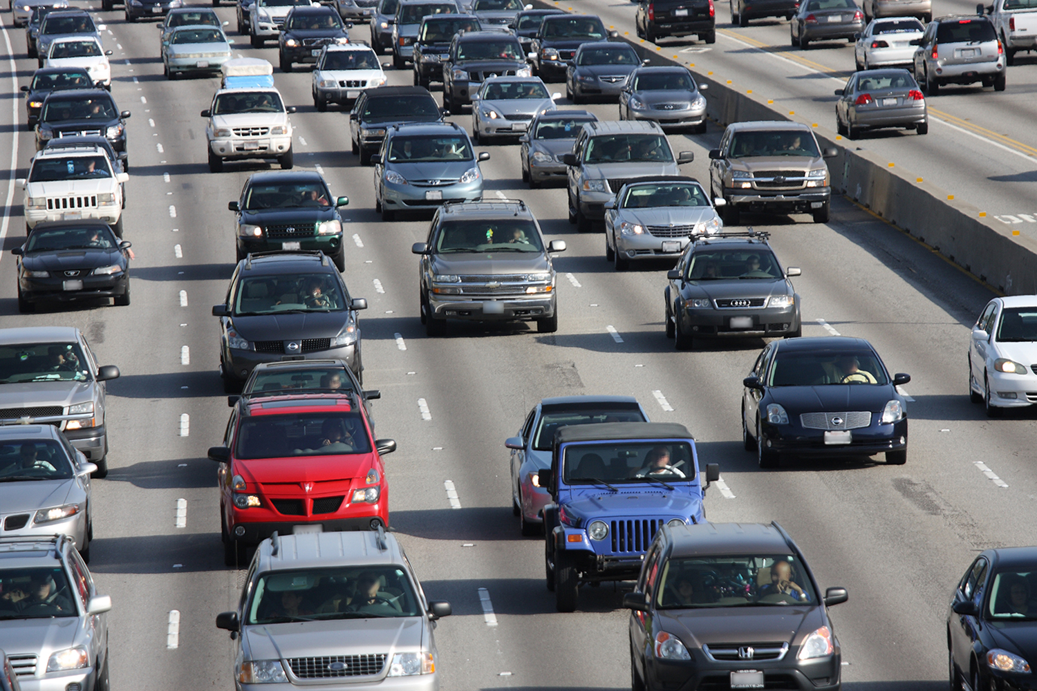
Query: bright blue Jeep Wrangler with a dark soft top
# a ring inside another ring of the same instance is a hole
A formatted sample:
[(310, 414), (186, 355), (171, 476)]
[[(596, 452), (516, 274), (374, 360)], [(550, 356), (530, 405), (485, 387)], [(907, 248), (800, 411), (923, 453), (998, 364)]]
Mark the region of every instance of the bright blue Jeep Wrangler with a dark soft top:
[(705, 521), (702, 497), (720, 466), (708, 464), (705, 474), (703, 486), (683, 425), (559, 428), (543, 509), (548, 589), (558, 611), (577, 608), (581, 583), (637, 579), (662, 525)]

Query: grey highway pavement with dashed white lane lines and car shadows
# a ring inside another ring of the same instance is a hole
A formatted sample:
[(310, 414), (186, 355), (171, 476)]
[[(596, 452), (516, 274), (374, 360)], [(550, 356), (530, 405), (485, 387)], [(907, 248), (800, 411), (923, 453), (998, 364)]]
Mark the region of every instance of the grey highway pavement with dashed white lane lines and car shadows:
[[(634, 6), (580, 5), (591, 7), (608, 25), (633, 17)], [(231, 6), (218, 11), (233, 25)], [(245, 572), (223, 566), (216, 466), (205, 457), (206, 449), (219, 443), (229, 412), (217, 374), (218, 324), (211, 308), (222, 301), (234, 261), (227, 202), (237, 198), (250, 172), (267, 166), (230, 165), (211, 174), (199, 112), (208, 108), (218, 80), (166, 81), (152, 23), (125, 24), (121, 9), (99, 15), (107, 23), (107, 48), (115, 51), (113, 94), (120, 109), (133, 113), (124, 222), (125, 239), (136, 253), (133, 304), (19, 316), (9, 250), (24, 238), (22, 196), (12, 184), (0, 184), (9, 213), (0, 226), (5, 232), (0, 285), (6, 286), (0, 327), (77, 325), (102, 364), (121, 369), (122, 376), (109, 382), (111, 471), (94, 483), (90, 565), (99, 588), (114, 601), (113, 689), (229, 689), (232, 645), (214, 622), (218, 612), (235, 606)], [(15, 57), (15, 74), (5, 61), (8, 74), (0, 79), (3, 103), (11, 106), (0, 106), (0, 133), (19, 167), (13, 179), (24, 175), (33, 151), (17, 89), (27, 83), (35, 61), (26, 58), (22, 31), (10, 28), (10, 15), (0, 15), (0, 22)], [(633, 34), (633, 23), (627, 28)], [(778, 83), (780, 68), (802, 77), (802, 68), (733, 37), (751, 35), (779, 46), (783, 31), (783, 24), (725, 29), (716, 51), (696, 61), (728, 60), (734, 77), (750, 86)], [(276, 49), (253, 50), (247, 38), (231, 35), (235, 52), (276, 63)], [(365, 38), (366, 26), (356, 27), (353, 36)], [(831, 69), (845, 69), (852, 60), (845, 47), (809, 56), (831, 59)], [(750, 73), (753, 61), (766, 66)], [(941, 96), (941, 107), (960, 108), (978, 120), (980, 114), (998, 113), (1021, 122), (1027, 87), (1014, 75), (1034, 75), (1034, 66), (1026, 57), (1019, 62), (1004, 94)], [(410, 71), (389, 74), (392, 84), (411, 83)], [(826, 225), (807, 223), (807, 217), (745, 214), (746, 223), (772, 233), (784, 264), (803, 269), (795, 285), (803, 297), (804, 336), (867, 338), (891, 371), (913, 377), (904, 387), (914, 399), (905, 466), (861, 458), (784, 462), (779, 470), (760, 471), (741, 448), (738, 405), (741, 379), (763, 343), (706, 343), (676, 352), (663, 329), (668, 266), (616, 273), (604, 259), (602, 235), (578, 234), (566, 222), (564, 191), (524, 188), (514, 144), (477, 147), (492, 153), (482, 165), (485, 196), (525, 199), (546, 239), (568, 243), (556, 259), (559, 330), (538, 335), (524, 325), (461, 324), (446, 338), (426, 338), (418, 320), (417, 258), (410, 248), (425, 239), (427, 218), (383, 223), (373, 209), (371, 169), (360, 168), (349, 153), (346, 115), (315, 112), (306, 71), (276, 73), (275, 79), (285, 100), (299, 107), (292, 116), (297, 166), (323, 171), (334, 195), (349, 197), (343, 209), (344, 278), (353, 295), (370, 306), (361, 319), (365, 385), (383, 392), (373, 404), (379, 436), (399, 443), (386, 458), (390, 520), (428, 598), (449, 600), (454, 608), (437, 629), (444, 691), (629, 688), (628, 614), (619, 608), (619, 594), (609, 585), (583, 588), (581, 611), (557, 613), (543, 585), (542, 542), (522, 538), (511, 515), (503, 441), (540, 398), (568, 394), (634, 395), (652, 420), (688, 425), (699, 441), (701, 462), (720, 463), (729, 489), (730, 497), (716, 486), (708, 491), (709, 518), (780, 521), (805, 551), (821, 587), (849, 589), (849, 602), (832, 610), (848, 691), (946, 689), (951, 588), (976, 551), (1033, 540), (1034, 415), (1008, 413), (990, 421), (966, 397), (969, 329), (991, 296), (987, 289), (842, 198), (834, 200)], [(832, 120), (831, 96), (823, 95), (831, 94), (829, 86), (814, 88), (814, 79), (794, 77), (784, 83), (803, 84), (786, 94), (796, 103), (789, 110), (810, 103), (823, 111), (825, 124)], [(990, 99), (1006, 105), (997, 108)], [(589, 108), (600, 117), (616, 113), (615, 105)], [(453, 119), (471, 126), (468, 114)], [(1020, 132), (1015, 136), (1034, 137)], [(992, 188), (1006, 200), (1027, 199), (1014, 192), (1020, 185), (989, 181), (979, 166), (955, 166), (958, 160), (947, 156), (981, 147), (974, 138), (952, 133), (934, 124), (924, 142), (914, 135), (865, 141), (897, 147), (899, 156), (931, 152), (929, 166), (962, 176), (961, 194), (983, 195)], [(671, 136), (675, 150), (695, 152), (689, 174), (707, 178), (706, 152), (719, 136), (713, 125), (704, 136)], [(983, 166), (1000, 175), (1028, 170), (1000, 149), (988, 155)], [(1009, 208), (1024, 207), (1006, 206), (1005, 212)], [(992, 206), (988, 210), (996, 212)], [(419, 399), (427, 405), (427, 420)], [(446, 481), (456, 488), (460, 508), (451, 508)], [(180, 499), (185, 527), (176, 527)], [(489, 611), (479, 588), (486, 591)]]

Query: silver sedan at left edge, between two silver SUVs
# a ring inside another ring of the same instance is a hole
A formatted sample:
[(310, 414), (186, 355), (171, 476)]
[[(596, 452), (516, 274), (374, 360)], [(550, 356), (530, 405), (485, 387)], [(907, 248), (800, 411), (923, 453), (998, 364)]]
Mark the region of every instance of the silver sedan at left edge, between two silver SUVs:
[(53, 425), (0, 427), (3, 535), (66, 535), (89, 564), (90, 473), (96, 469)]

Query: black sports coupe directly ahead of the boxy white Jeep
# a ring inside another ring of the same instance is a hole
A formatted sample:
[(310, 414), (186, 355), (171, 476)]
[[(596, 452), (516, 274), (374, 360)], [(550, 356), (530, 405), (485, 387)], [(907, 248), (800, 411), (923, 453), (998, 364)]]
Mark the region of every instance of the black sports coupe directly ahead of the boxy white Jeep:
[(34, 312), (41, 300), (130, 304), (130, 242), (104, 222), (40, 223), (10, 253), (18, 257), (19, 312)]

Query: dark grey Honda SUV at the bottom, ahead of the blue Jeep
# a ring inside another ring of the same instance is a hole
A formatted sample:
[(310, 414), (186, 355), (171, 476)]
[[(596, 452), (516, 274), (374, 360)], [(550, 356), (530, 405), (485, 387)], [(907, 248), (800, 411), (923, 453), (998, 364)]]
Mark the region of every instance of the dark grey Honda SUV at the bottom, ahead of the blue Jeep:
[(828, 608), (847, 599), (844, 587), (821, 595), (777, 522), (664, 525), (623, 596), (633, 687), (839, 691), (842, 651)]

